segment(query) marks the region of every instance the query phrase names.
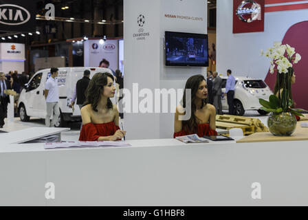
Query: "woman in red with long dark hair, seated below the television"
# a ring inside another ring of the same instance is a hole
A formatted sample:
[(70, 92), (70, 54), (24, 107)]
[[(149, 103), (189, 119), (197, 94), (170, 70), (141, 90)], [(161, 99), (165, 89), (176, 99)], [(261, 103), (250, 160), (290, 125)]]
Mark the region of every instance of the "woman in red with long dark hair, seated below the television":
[[(186, 89), (191, 89), (190, 97), (186, 97)], [(202, 75), (188, 78), (181, 102), (175, 112), (173, 137), (192, 133), (197, 133), (199, 137), (217, 135), (216, 110), (212, 104), (208, 104), (208, 86)]]

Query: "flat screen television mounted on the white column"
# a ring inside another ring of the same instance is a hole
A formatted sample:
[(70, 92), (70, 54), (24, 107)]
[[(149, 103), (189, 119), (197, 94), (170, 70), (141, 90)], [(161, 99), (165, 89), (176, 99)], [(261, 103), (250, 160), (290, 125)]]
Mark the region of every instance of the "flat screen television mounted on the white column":
[(166, 66), (208, 67), (208, 34), (165, 32)]

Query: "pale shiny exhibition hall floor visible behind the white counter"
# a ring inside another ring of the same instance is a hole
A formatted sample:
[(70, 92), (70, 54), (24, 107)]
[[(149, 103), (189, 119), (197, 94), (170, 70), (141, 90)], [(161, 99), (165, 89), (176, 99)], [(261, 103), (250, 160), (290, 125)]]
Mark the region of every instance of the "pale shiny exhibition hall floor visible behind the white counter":
[[(226, 112), (225, 112), (226, 113)], [(265, 126), (267, 126), (267, 117), (268, 116), (261, 116), (259, 115), (258, 112), (256, 111), (246, 111), (245, 115), (247, 117), (253, 117), (253, 118), (259, 118)], [(123, 122), (124, 120), (120, 119), (120, 123)], [(14, 118), (13, 122), (7, 122), (5, 119), (5, 125), (3, 129), (0, 129), (2, 131), (18, 131), (21, 129), (27, 129), (28, 127), (32, 126), (45, 126), (45, 120), (40, 119), (40, 118), (31, 118), (30, 122), (21, 122), (19, 118)], [(80, 123), (79, 122), (74, 122), (74, 123), (69, 123), (68, 127), (71, 128), (70, 131), (65, 131), (61, 133), (61, 137), (63, 141), (76, 141), (78, 140), (79, 133), (80, 133)], [(1, 135), (0, 135), (1, 138)]]

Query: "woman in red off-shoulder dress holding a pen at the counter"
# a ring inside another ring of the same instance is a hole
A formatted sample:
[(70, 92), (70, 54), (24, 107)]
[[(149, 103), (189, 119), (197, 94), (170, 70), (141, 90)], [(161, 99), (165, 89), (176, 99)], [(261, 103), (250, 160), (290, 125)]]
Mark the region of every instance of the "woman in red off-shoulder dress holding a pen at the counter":
[(119, 111), (110, 100), (115, 94), (113, 80), (109, 73), (97, 73), (92, 77), (80, 110), (83, 119), (80, 141), (113, 141), (124, 137), (126, 131), (120, 130)]

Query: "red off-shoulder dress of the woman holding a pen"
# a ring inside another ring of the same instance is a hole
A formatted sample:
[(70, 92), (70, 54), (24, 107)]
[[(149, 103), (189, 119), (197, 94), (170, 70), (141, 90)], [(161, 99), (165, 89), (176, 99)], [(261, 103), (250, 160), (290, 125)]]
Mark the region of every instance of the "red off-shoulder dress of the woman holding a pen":
[(120, 129), (114, 122), (102, 123), (102, 124), (83, 124), (83, 128), (80, 131), (80, 141), (97, 141), (98, 137), (114, 135), (115, 131)]

